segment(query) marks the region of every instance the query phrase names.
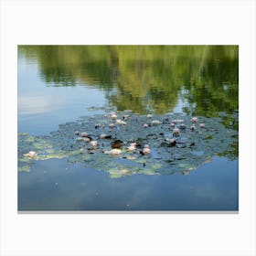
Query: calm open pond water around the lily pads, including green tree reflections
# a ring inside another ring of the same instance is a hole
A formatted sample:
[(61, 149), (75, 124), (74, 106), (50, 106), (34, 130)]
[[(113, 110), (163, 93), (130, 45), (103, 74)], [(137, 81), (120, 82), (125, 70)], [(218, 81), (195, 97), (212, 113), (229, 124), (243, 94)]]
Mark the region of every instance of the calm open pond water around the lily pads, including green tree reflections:
[[(238, 47), (19, 46), (18, 133), (132, 110), (219, 117), (238, 130)], [(19, 148), (19, 144), (18, 144)], [(189, 175), (112, 178), (67, 159), (18, 172), (19, 210), (238, 210), (238, 142)]]

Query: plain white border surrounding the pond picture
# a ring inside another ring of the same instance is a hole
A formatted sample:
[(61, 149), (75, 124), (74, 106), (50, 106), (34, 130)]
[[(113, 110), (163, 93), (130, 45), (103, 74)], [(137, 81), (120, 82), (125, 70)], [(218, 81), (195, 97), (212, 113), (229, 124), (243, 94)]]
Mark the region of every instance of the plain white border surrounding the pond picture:
[[(1, 255), (256, 255), (254, 1), (1, 2)], [(240, 45), (239, 214), (17, 214), (16, 45)]]

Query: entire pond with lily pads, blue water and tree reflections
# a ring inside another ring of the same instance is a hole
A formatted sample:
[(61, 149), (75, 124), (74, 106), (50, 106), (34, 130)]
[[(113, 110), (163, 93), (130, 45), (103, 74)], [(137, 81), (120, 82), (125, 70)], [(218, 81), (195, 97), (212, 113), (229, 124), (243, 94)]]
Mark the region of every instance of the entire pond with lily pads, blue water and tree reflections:
[(18, 46), (18, 210), (239, 209), (238, 46)]

